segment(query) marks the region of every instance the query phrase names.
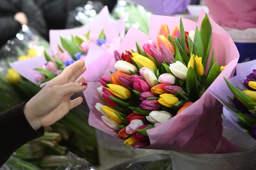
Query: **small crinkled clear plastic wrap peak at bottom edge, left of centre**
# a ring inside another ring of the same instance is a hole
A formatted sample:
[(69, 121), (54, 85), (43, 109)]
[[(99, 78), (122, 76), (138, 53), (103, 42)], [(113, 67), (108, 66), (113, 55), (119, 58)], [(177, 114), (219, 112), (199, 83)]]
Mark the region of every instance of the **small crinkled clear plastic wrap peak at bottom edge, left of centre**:
[(59, 164), (56, 170), (96, 170), (96, 168), (87, 160), (68, 152), (65, 160)]

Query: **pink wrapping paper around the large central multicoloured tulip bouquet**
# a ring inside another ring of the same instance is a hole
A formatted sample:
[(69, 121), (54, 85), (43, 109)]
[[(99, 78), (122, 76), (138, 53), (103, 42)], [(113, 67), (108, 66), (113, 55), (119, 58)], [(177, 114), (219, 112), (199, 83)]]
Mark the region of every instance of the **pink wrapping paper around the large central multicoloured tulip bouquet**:
[[(201, 13), (199, 19), (202, 20), (205, 14)], [(155, 16), (150, 23), (149, 37), (156, 40), (159, 28), (162, 24), (167, 24), (171, 29), (179, 25), (179, 18)], [(201, 21), (200, 21), (201, 22)], [(223, 82), (223, 77), (231, 78), (235, 70), (239, 53), (230, 36), (211, 20), (213, 26), (212, 47), (215, 49), (215, 59), (220, 65), (227, 65), (226, 69), (216, 78), (213, 86)], [(183, 20), (186, 30), (195, 30), (196, 23), (190, 20)], [(120, 46), (119, 52), (135, 47), (135, 41), (143, 45), (148, 37), (131, 28)], [(109, 66), (109, 68), (113, 68)], [(110, 130), (101, 120), (101, 113), (94, 109), (95, 103), (100, 100), (96, 98), (100, 84), (90, 85), (90, 91), (85, 91), (88, 106), (91, 109), (89, 124), (101, 131), (116, 137), (116, 132)], [(147, 149), (175, 150), (190, 153), (229, 153), (239, 151), (240, 148), (222, 137), (222, 105), (210, 93), (209, 89), (202, 98), (190, 105), (179, 115), (171, 118), (167, 122), (148, 130), (150, 144)], [(94, 93), (94, 94), (90, 94)], [(92, 96), (94, 99), (92, 100)]]

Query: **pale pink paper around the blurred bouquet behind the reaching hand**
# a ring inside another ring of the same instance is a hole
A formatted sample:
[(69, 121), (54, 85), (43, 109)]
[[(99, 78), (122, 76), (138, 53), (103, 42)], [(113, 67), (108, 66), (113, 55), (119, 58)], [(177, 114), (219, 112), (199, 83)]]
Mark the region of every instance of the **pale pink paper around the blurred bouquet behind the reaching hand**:
[[(50, 31), (50, 48), (55, 51), (58, 49), (58, 44), (61, 45), (60, 37), (71, 39), (71, 35), (83, 37), (85, 33), (90, 31), (91, 36), (98, 37), (101, 30), (104, 28), (107, 41), (111, 42), (111, 46), (108, 50), (104, 50), (101, 47), (91, 43), (90, 48), (85, 59), (85, 65), (87, 71), (83, 76), (88, 82), (98, 81), (99, 75), (104, 75), (106, 69), (112, 59), (114, 59), (114, 50), (117, 50), (121, 44), (121, 40), (125, 34), (125, 22), (123, 19), (110, 21), (108, 7), (104, 7), (101, 12), (95, 17), (95, 19), (87, 25), (80, 28), (64, 29), (64, 30), (51, 30)], [(51, 52), (48, 52), (51, 54)], [(34, 68), (38, 68), (40, 65), (46, 63), (44, 57), (37, 57), (33, 59), (27, 59), (24, 61), (16, 61), (10, 63), (11, 67), (16, 72), (19, 72), (24, 78), (27, 78), (34, 84), (38, 85), (35, 80)], [(46, 83), (40, 85), (41, 87)]]

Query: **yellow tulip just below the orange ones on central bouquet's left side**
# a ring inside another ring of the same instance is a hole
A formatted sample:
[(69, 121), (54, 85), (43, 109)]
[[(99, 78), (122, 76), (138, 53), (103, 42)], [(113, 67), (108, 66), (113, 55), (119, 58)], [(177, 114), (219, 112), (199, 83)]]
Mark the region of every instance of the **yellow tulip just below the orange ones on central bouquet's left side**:
[(131, 92), (121, 86), (121, 85), (115, 85), (115, 84), (108, 84), (108, 91), (114, 94), (116, 97), (121, 98), (123, 100), (126, 100), (128, 98), (131, 98)]

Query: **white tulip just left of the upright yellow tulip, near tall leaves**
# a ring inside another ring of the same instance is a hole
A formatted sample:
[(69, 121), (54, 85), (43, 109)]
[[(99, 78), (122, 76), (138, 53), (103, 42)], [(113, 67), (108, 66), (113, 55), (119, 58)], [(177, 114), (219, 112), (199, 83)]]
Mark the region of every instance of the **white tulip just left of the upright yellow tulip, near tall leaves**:
[(180, 61), (176, 61), (169, 66), (170, 71), (177, 77), (182, 80), (185, 80), (187, 77), (188, 68), (182, 64)]

